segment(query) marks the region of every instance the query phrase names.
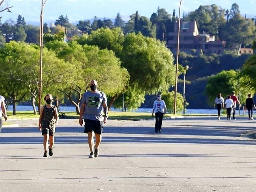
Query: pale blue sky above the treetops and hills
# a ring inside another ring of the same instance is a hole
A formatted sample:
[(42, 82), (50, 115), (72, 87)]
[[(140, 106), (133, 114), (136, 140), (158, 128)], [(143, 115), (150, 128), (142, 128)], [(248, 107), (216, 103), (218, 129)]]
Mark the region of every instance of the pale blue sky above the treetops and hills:
[[(7, 0), (6, 0), (7, 1)], [(45, 0), (43, 0), (45, 1)], [(41, 0), (8, 0), (12, 13), (1, 13), (2, 22), (9, 18), (16, 21), (20, 14), (26, 22), (39, 21)], [(139, 15), (150, 18), (158, 6), (172, 14), (173, 9), (178, 14), (180, 0), (47, 0), (44, 6), (44, 21), (55, 21), (60, 15), (68, 16), (69, 21), (94, 18), (115, 18), (119, 12), (123, 18), (138, 11)], [(250, 17), (256, 16), (256, 0), (182, 0), (181, 15), (196, 10), (200, 5), (216, 4), (223, 9), (230, 9), (237, 3), (240, 12)]]

